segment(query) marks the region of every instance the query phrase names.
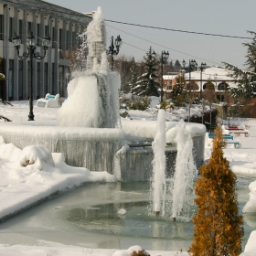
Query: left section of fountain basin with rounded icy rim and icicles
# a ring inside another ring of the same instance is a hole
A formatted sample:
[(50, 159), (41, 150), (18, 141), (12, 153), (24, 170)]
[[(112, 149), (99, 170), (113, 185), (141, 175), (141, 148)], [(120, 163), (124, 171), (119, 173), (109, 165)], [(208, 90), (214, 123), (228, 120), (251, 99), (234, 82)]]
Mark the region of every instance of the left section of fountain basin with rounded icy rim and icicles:
[[(51, 126), (49, 126), (51, 124)], [(2, 123), (0, 134), (5, 143), (23, 149), (42, 144), (52, 153), (62, 153), (68, 165), (112, 174), (114, 155), (122, 147), (121, 129), (61, 127), (55, 122)]]

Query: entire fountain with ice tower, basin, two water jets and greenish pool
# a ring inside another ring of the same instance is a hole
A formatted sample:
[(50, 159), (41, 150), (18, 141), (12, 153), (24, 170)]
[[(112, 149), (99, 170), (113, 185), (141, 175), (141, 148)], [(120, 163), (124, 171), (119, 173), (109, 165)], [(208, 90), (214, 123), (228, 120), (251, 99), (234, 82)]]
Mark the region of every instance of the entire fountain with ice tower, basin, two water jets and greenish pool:
[[(192, 158), (197, 167), (204, 160), (205, 127), (165, 123), (163, 110), (157, 122), (120, 120), (120, 77), (108, 68), (101, 9), (87, 36), (86, 69), (73, 74), (69, 98), (60, 108), (57, 122), (1, 123), (0, 133), (5, 143), (19, 148), (43, 144), (51, 152), (62, 153), (68, 165), (108, 171), (125, 182), (85, 184), (52, 197), (2, 223), (0, 238), (6, 244), (47, 240), (127, 249), (139, 243), (147, 250), (187, 250), (193, 232), (187, 219), (187, 212), (191, 217), (193, 211), (189, 201), (193, 176), (188, 172), (197, 172)], [(155, 208), (148, 196), (151, 183), (147, 182), (153, 173)], [(243, 195), (248, 194), (245, 192)], [(120, 211), (123, 208), (125, 214)], [(160, 211), (163, 218), (148, 214), (148, 208), (151, 213)], [(171, 222), (171, 218), (177, 221)]]

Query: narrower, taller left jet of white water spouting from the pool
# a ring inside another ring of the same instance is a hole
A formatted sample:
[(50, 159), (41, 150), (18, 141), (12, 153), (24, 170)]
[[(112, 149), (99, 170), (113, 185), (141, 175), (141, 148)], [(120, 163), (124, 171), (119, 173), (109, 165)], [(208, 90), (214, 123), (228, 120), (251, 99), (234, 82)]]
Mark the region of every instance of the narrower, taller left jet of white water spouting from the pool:
[[(165, 215), (165, 111), (159, 110), (157, 115), (155, 139), (152, 144), (154, 151), (152, 197), (155, 215)], [(161, 206), (162, 204), (162, 206)]]

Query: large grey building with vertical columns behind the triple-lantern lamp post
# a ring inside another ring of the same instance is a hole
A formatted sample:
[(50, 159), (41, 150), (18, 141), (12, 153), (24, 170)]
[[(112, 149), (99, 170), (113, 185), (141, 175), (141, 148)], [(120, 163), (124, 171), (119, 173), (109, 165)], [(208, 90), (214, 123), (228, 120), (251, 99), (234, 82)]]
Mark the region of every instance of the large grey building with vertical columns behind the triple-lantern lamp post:
[[(0, 0), (0, 97), (8, 101), (28, 99), (32, 82), (33, 98), (46, 93), (67, 96), (69, 61), (65, 56), (80, 45), (80, 34), (91, 22), (91, 16), (40, 0)], [(52, 47), (45, 59), (33, 59), (33, 80), (30, 79), (30, 59), (19, 59), (10, 38), (21, 38), (20, 55), (27, 52), (27, 35), (32, 31), (37, 40), (36, 51), (43, 55), (41, 38), (49, 35)]]

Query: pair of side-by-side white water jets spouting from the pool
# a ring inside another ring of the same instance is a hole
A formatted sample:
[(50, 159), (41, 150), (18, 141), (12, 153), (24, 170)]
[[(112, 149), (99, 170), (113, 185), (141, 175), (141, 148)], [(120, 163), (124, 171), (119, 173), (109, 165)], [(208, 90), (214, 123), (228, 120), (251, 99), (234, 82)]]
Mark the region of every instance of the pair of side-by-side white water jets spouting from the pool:
[[(153, 176), (151, 179), (151, 197), (154, 214), (165, 217), (165, 208), (172, 219), (176, 217), (189, 220), (194, 206), (194, 182), (197, 178), (197, 166), (194, 163), (193, 141), (186, 135), (183, 120), (176, 124), (176, 165), (175, 172), (166, 178), (165, 166), (165, 111), (157, 116), (154, 151)], [(168, 217), (167, 214), (167, 217)]]

